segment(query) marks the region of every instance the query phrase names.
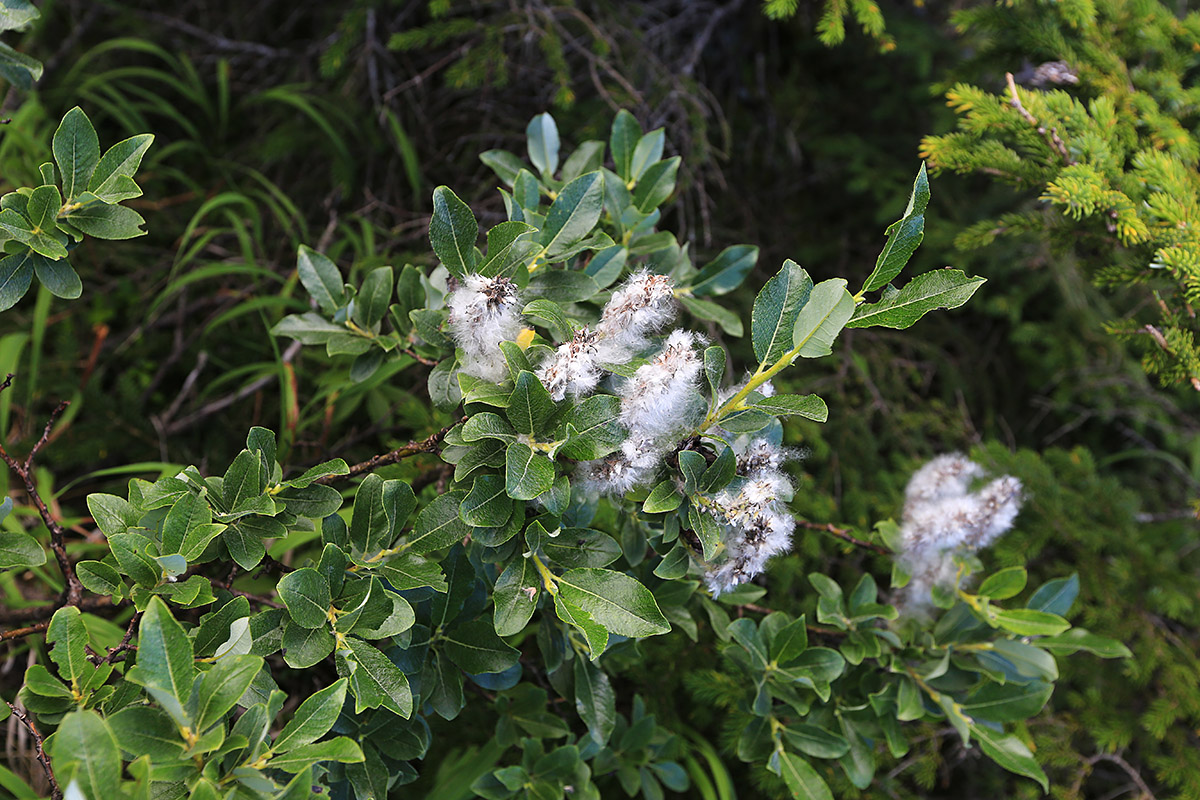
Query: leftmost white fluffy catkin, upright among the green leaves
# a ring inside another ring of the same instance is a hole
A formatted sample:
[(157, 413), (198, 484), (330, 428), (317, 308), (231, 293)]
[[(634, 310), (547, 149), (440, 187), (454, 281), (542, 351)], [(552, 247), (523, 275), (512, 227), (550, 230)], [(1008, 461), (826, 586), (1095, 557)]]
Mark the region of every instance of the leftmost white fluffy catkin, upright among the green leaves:
[(521, 333), (521, 300), (517, 287), (504, 277), (467, 275), (446, 297), (450, 333), (463, 351), (462, 372), (485, 380), (508, 377), (500, 342)]

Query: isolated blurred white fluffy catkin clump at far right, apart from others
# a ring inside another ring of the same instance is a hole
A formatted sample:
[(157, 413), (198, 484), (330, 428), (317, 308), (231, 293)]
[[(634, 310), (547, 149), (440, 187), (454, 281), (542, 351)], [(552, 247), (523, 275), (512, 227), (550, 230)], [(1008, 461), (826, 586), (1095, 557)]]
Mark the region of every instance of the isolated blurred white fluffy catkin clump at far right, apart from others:
[(958, 588), (955, 552), (982, 549), (1013, 527), (1021, 482), (1006, 475), (971, 492), (971, 482), (983, 473), (962, 453), (947, 453), (908, 481), (900, 527), (900, 561), (912, 576), (901, 597), (906, 610), (926, 612), (934, 587)]

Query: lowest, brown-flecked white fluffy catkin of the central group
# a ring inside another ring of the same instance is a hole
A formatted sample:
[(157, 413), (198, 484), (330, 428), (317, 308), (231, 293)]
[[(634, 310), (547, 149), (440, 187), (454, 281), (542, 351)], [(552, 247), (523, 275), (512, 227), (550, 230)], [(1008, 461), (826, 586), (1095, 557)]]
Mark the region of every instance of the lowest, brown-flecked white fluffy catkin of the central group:
[(792, 548), (796, 521), (787, 511), (792, 483), (782, 471), (787, 452), (766, 439), (750, 441), (738, 456), (737, 488), (720, 492), (706, 507), (722, 525), (725, 560), (704, 576), (713, 596), (762, 572), (767, 560)]

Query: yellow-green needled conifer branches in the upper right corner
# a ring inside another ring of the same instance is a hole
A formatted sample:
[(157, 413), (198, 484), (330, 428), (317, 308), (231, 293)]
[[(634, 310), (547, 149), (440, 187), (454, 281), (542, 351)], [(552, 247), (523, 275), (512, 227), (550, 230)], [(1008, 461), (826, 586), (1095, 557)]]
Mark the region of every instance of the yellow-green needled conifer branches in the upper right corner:
[(1032, 235), (1076, 255), (1098, 285), (1139, 287), (1138, 307), (1108, 331), (1133, 341), (1162, 384), (1200, 390), (1200, 88), (1190, 80), (1200, 14), (1180, 19), (1153, 0), (1022, 2), (968, 8), (954, 23), (979, 40), (979, 62), (1010, 72), (995, 92), (950, 88), (958, 130), (926, 137), (923, 156), (935, 173), (1040, 192), (1040, 207), (979, 222), (958, 245)]

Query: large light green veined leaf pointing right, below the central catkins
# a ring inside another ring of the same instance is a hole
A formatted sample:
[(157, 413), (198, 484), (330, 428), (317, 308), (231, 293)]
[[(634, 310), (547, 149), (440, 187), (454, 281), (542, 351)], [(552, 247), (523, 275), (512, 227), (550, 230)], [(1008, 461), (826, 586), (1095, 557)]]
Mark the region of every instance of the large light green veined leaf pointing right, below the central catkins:
[(650, 590), (623, 572), (569, 570), (559, 578), (558, 591), (610, 633), (644, 637), (671, 630)]

